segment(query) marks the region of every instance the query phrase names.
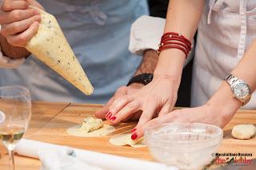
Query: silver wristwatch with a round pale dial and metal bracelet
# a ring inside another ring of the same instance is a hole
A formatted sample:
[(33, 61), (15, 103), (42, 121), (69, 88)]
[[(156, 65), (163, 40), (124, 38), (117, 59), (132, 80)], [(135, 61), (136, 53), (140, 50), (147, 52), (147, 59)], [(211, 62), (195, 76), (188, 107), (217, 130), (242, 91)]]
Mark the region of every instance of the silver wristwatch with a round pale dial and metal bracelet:
[(232, 74), (227, 75), (224, 80), (230, 84), (233, 97), (242, 101), (242, 106), (246, 105), (250, 101), (251, 91), (249, 85), (245, 81), (234, 77)]

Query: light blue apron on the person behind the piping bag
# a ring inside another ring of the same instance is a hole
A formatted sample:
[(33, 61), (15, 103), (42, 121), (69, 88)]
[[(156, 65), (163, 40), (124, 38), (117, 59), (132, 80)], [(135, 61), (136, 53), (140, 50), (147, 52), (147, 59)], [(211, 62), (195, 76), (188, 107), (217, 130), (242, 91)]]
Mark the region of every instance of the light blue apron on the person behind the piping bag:
[(23, 85), (33, 101), (106, 103), (137, 71), (128, 50), (131, 24), (148, 14), (146, 0), (39, 0), (57, 18), (94, 93), (86, 96), (34, 55), (18, 69), (0, 69), (0, 85)]

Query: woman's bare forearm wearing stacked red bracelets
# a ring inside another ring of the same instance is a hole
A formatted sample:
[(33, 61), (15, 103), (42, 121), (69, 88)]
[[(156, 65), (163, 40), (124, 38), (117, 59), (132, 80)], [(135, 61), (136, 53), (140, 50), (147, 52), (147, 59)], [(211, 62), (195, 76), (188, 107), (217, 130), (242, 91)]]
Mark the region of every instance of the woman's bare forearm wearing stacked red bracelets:
[[(202, 15), (203, 5), (203, 0), (170, 1), (164, 33), (176, 32), (192, 41)], [(180, 49), (162, 50), (154, 75), (166, 74), (175, 77), (179, 82), (182, 77), (185, 57), (185, 53)]]

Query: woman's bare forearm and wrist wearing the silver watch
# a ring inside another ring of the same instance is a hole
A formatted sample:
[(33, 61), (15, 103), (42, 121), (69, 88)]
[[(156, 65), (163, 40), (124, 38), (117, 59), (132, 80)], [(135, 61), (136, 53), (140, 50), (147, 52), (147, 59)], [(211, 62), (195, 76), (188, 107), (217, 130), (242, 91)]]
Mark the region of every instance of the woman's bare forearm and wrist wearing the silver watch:
[[(256, 39), (254, 39), (254, 42), (252, 42), (249, 49), (247, 49), (242, 60), (239, 61), (238, 65), (236, 65), (231, 72), (235, 77), (245, 81), (250, 86), (252, 93), (256, 89), (255, 53)], [(217, 93), (214, 94), (206, 105), (212, 105), (213, 108), (218, 109), (216, 113), (220, 113), (221, 115), (219, 116), (222, 118), (222, 121), (225, 122), (225, 117), (234, 116), (234, 113), (242, 106), (242, 101), (233, 97), (230, 85), (226, 81), (223, 81)]]

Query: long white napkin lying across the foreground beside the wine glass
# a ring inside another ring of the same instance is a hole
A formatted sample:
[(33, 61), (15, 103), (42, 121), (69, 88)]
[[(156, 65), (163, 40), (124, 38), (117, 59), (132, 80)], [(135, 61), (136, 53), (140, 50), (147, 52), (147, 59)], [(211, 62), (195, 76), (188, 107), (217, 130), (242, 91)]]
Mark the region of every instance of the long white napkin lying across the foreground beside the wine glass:
[[(166, 167), (165, 164), (146, 160), (135, 160), (26, 139), (18, 142), (15, 151), (22, 156), (40, 158), (44, 170), (78, 169), (81, 166), (82, 169), (86, 170), (178, 170), (176, 167)], [(72, 164), (68, 164), (69, 161), (74, 162), (77, 167), (71, 168)], [(67, 168), (63, 167), (62, 164), (65, 164)], [(57, 168), (58, 165), (61, 167)]]

